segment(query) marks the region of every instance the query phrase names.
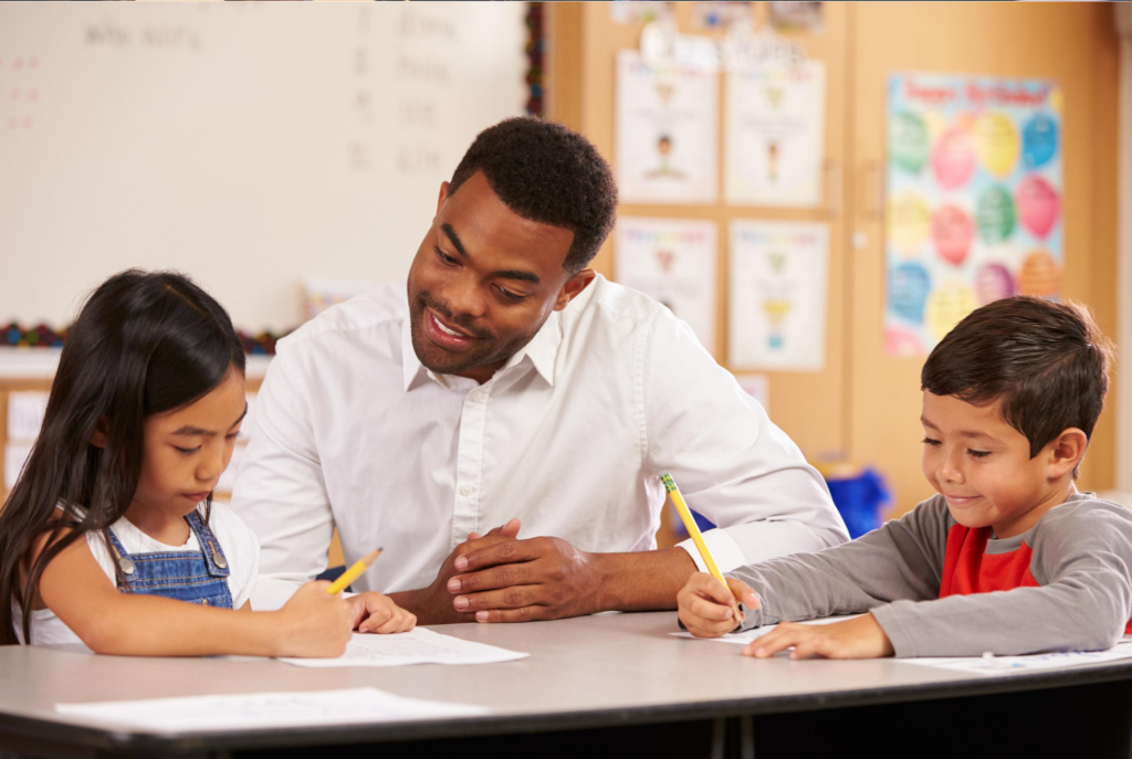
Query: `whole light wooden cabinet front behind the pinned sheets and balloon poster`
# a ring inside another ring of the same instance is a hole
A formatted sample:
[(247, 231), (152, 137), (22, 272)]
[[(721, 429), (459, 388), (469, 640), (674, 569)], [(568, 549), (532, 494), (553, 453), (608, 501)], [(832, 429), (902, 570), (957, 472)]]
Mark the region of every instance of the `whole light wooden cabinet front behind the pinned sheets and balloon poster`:
[[(552, 5), (550, 11), (551, 115), (614, 158), (615, 55), (637, 46), (642, 26), (614, 23), (606, 3)], [(677, 3), (680, 31), (703, 34), (692, 29), (692, 12), (687, 3)], [(885, 77), (934, 71), (1044, 77), (1062, 85), (1063, 292), (1089, 305), (1115, 339), (1117, 36), (1104, 3), (825, 3), (824, 12), (820, 33), (787, 36), (827, 68), (825, 208), (625, 204), (620, 212), (712, 219), (721, 233), (739, 217), (830, 225), (825, 369), (769, 372), (767, 411), (812, 460), (840, 452), (849, 462), (877, 466), (894, 491), (890, 514), (897, 516), (933, 491), (919, 466), (923, 357), (890, 356), (883, 344)], [(756, 23), (765, 20), (765, 3), (756, 3)], [(610, 276), (615, 255), (607, 243), (595, 268)], [(726, 233), (718, 268), (717, 356), (727, 365)], [(1115, 486), (1115, 404), (1114, 390), (1082, 467), (1082, 489)]]

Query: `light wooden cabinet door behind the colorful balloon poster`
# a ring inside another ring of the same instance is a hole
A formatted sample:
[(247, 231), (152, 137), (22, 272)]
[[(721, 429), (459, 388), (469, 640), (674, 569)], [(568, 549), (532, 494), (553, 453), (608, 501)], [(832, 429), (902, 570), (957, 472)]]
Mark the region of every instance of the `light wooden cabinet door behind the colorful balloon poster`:
[[(933, 494), (920, 473), (923, 357), (885, 353), (883, 169), (885, 81), (924, 71), (1056, 80), (1064, 92), (1064, 296), (1116, 327), (1116, 97), (1118, 40), (1106, 3), (851, 3), (850, 111), (857, 245), (847, 283), (851, 327), (848, 437), (895, 489), (897, 512)], [(1108, 407), (1115, 405), (1109, 396)], [(1113, 486), (1113, 414), (1095, 431), (1080, 486)]]

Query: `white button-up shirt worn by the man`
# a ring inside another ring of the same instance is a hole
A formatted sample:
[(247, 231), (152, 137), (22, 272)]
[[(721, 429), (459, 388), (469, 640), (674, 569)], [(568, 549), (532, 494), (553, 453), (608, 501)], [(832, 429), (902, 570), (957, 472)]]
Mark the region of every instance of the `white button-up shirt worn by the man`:
[(599, 276), (481, 386), (421, 365), (400, 282), (280, 340), (232, 506), (267, 609), (326, 568), (335, 525), (348, 564), (385, 549), (353, 586), (387, 593), (512, 517), (521, 538), (654, 549), (663, 473), (719, 525), (722, 571), (848, 540), (797, 446), (657, 301)]

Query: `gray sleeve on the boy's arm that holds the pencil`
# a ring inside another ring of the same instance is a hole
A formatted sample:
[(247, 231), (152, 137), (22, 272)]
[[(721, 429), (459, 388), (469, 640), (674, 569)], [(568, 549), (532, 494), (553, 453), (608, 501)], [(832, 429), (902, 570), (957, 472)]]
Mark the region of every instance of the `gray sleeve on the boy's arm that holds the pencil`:
[(743, 629), (935, 598), (947, 527), (946, 503), (936, 497), (851, 543), (727, 572), (758, 595), (761, 605), (746, 610)]

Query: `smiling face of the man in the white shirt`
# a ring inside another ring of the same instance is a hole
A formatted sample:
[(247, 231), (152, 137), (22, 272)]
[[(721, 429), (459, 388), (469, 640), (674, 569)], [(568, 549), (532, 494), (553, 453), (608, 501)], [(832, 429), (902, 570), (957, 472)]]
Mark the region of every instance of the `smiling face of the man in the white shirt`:
[(413, 350), (434, 372), (486, 382), (593, 278), (563, 268), (574, 233), (511, 210), (481, 172), (449, 195), (409, 271)]

